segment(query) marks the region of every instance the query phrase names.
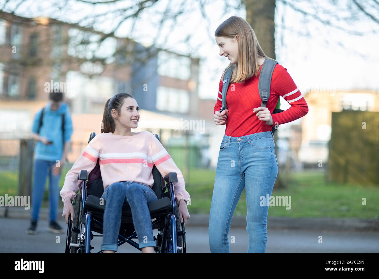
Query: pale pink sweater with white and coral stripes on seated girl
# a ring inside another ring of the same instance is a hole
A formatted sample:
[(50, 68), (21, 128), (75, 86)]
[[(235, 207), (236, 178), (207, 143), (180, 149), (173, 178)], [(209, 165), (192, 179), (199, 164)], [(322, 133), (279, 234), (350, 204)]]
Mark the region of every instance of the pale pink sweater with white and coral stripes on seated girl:
[(151, 188), (154, 184), (152, 168), (155, 165), (163, 177), (169, 172), (177, 173), (178, 182), (174, 183), (176, 202), (179, 204), (180, 199), (185, 199), (189, 203), (182, 172), (160, 141), (147, 131), (134, 136), (112, 135), (111, 132), (97, 134), (67, 172), (60, 191), (63, 201), (66, 197), (75, 199), (81, 183), (77, 178), (80, 170), (90, 173), (96, 166), (97, 158), (104, 190), (120, 181), (140, 182)]

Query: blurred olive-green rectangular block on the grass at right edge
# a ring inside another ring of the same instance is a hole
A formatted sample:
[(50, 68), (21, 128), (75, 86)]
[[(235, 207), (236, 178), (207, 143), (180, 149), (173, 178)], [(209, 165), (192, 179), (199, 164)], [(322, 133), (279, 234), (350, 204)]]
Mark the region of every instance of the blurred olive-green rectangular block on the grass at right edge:
[(327, 181), (379, 185), (379, 112), (332, 112)]

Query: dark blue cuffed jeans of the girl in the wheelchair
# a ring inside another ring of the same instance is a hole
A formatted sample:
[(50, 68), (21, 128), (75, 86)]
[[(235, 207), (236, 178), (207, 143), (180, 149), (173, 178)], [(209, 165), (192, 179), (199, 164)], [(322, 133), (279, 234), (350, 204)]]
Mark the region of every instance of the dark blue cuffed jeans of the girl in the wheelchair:
[(106, 200), (106, 203), (101, 250), (117, 251), (121, 211), (124, 202), (132, 210), (133, 225), (138, 236), (139, 248), (155, 247), (151, 216), (147, 204), (158, 200), (158, 198), (149, 186), (134, 181), (112, 183), (105, 189), (102, 198)]

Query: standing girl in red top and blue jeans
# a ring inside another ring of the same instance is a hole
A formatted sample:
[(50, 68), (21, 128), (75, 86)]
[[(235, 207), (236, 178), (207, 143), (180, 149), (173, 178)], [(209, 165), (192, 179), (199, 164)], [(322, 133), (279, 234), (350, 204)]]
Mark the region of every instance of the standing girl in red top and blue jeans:
[[(234, 69), (226, 95), (227, 109), (219, 112), (223, 76), (214, 108), (216, 125), (226, 124), (226, 130), (219, 151), (209, 216), (210, 250), (230, 252), (230, 223), (246, 188), (247, 252), (264, 253), (269, 203), (266, 199), (271, 196), (278, 173), (272, 128), (303, 117), (308, 106), (287, 69), (277, 64), (271, 79), (270, 97), (266, 107), (261, 107), (258, 80), (262, 64), (269, 57), (246, 20), (230, 17), (216, 29), (215, 36), (219, 54), (228, 58)], [(279, 96), (291, 107), (272, 115)]]

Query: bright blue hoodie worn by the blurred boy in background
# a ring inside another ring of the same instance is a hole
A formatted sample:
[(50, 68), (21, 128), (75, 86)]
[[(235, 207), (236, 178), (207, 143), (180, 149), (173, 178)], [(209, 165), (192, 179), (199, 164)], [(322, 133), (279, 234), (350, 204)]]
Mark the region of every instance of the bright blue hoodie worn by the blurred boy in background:
[[(39, 119), (41, 118), (42, 109), (34, 116), (33, 126), (31, 131), (38, 132)], [(46, 145), (42, 142), (37, 142), (34, 147), (34, 159), (45, 161), (61, 160), (63, 155), (63, 138), (62, 138), (62, 114), (65, 115), (64, 125), (64, 142), (71, 141), (72, 120), (69, 113), (69, 107), (65, 102), (61, 103), (58, 110), (50, 110), (50, 101), (47, 102), (42, 119), (42, 126), (39, 130), (40, 137), (47, 137), (53, 144)]]

